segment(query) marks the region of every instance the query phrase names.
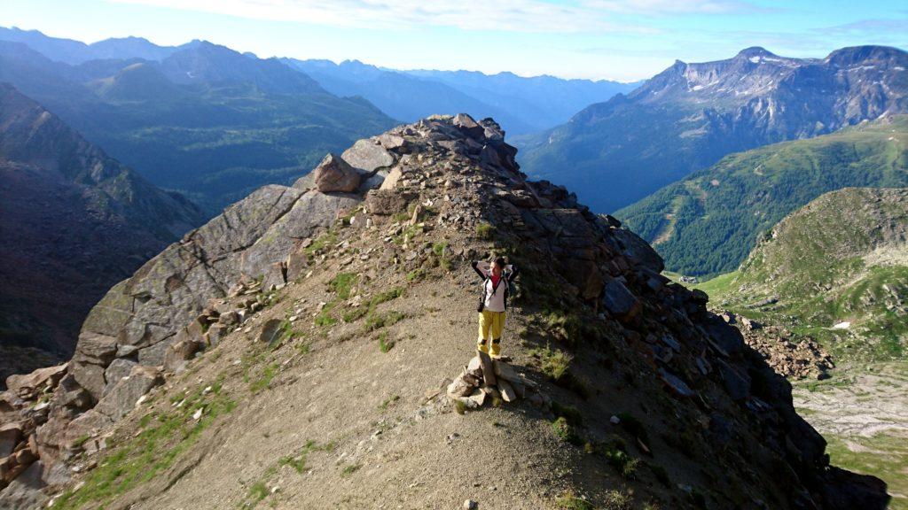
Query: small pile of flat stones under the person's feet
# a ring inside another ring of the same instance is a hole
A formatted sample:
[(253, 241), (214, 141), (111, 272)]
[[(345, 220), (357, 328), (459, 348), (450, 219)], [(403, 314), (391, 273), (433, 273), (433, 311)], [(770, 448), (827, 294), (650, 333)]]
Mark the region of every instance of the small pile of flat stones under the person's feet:
[(536, 407), (550, 408), (551, 399), (539, 391), (538, 384), (518, 374), (507, 359), (493, 359), (489, 354), (477, 351), (448, 385), (448, 397), (468, 409), (478, 409), (487, 400), (514, 402), (518, 398), (527, 398)]

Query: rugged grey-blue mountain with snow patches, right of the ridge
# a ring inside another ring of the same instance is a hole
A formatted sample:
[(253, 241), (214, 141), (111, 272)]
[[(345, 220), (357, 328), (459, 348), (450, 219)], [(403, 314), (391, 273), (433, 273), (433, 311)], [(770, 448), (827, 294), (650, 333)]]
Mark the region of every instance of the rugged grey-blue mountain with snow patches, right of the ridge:
[(725, 154), (908, 112), (908, 54), (883, 46), (795, 59), (763, 48), (676, 62), (627, 95), (516, 140), (525, 172), (610, 212)]

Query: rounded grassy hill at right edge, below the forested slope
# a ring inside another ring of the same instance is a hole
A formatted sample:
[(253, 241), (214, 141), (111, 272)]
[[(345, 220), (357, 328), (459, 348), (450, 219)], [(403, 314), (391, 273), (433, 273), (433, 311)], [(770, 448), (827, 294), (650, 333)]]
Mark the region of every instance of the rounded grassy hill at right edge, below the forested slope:
[(906, 234), (908, 189), (833, 191), (779, 222), (740, 270), (701, 288), (724, 308), (817, 338), (838, 359), (903, 358)]

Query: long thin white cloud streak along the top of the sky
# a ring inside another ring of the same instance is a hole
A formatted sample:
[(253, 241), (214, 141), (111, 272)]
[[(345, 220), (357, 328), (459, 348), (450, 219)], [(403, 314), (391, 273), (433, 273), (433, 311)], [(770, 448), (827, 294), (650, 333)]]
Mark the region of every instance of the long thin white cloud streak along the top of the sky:
[[(656, 33), (645, 25), (614, 19), (620, 9), (582, 1), (556, 5), (543, 0), (113, 0), (249, 19), (292, 21), (315, 25), (410, 29), (449, 26), (462, 30), (508, 32), (635, 32)], [(680, 3), (695, 3), (678, 0)], [(665, 0), (644, 0), (646, 5)], [(606, 2), (628, 4), (633, 2)], [(674, 2), (677, 3), (677, 2)], [(706, 2), (701, 2), (706, 3)], [(713, 0), (709, 4), (722, 4)], [(647, 10), (651, 7), (647, 7)]]

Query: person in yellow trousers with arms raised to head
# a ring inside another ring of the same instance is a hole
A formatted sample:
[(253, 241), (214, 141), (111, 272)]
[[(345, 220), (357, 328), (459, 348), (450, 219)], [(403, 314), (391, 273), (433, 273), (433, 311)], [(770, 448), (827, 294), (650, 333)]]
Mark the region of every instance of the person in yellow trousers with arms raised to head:
[[(479, 339), (476, 348), (489, 353), (492, 358), (501, 355), (501, 334), (505, 327), (505, 310), (508, 309), (508, 288), (517, 278), (518, 268), (497, 257), (491, 264), (473, 260), (473, 270), (482, 278), (482, 296), (479, 299)], [(489, 348), (489, 337), (491, 346)]]

